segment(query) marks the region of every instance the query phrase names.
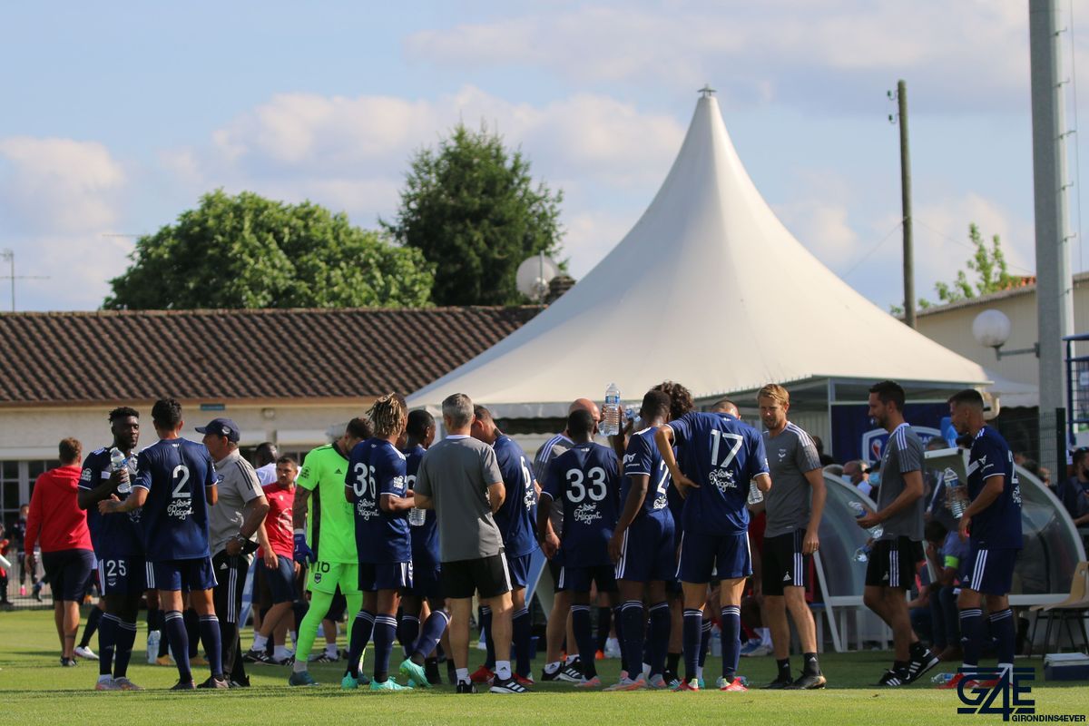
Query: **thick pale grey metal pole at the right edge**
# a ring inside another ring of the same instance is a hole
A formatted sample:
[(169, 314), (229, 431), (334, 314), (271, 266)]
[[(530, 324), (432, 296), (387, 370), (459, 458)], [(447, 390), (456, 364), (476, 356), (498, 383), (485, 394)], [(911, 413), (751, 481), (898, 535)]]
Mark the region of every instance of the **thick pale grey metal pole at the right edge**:
[[(1066, 130), (1055, 0), (1029, 0), (1032, 99), (1032, 197), (1036, 217), (1036, 305), (1040, 345), (1040, 465), (1062, 472), (1054, 441), (1066, 407), (1063, 336), (1074, 333), (1074, 282), (1066, 219)], [(1065, 444), (1065, 442), (1062, 442)]]

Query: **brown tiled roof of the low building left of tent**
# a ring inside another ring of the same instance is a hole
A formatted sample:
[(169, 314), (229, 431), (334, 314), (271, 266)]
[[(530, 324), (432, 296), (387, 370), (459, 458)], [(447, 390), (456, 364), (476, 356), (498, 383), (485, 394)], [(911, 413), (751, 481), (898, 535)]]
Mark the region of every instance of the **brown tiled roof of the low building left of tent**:
[(539, 310), (0, 313), (0, 406), (407, 395)]

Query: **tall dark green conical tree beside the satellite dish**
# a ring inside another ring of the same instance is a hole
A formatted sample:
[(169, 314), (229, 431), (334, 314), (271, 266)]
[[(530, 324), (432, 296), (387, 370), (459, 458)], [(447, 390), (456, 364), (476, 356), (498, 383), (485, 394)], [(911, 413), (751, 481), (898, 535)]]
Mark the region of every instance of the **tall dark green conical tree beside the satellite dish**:
[(438, 149), (415, 155), (396, 218), (382, 225), (436, 266), (436, 305), (523, 303), (518, 264), (559, 253), (563, 193), (535, 186), (529, 167), (486, 126), (458, 124)]

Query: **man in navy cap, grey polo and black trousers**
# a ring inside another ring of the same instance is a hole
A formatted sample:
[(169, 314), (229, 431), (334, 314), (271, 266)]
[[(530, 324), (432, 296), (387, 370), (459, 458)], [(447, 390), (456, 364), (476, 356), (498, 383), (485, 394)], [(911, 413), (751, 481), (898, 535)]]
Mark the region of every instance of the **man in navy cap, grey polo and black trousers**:
[(205, 434), (204, 445), (216, 460), (216, 473), (220, 477), (219, 500), (208, 512), (208, 542), (216, 570), (212, 598), (222, 637), (223, 675), (230, 681), (248, 686), (241, 656), (238, 615), (258, 534), (261, 544), (269, 546), (262, 527), (269, 505), (253, 465), (238, 453), (237, 424), (229, 418), (217, 418), (208, 426), (198, 426), (197, 431)]

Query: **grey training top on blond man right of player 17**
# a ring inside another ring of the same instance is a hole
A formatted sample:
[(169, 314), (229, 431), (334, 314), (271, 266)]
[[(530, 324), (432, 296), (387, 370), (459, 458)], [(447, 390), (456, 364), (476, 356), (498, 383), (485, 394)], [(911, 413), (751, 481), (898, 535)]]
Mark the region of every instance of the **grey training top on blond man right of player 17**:
[(764, 503), (768, 525), (763, 536), (792, 534), (809, 524), (812, 492), (806, 472), (821, 468), (820, 456), (809, 434), (790, 421), (776, 436), (764, 431), (763, 447), (771, 473), (771, 490)]

